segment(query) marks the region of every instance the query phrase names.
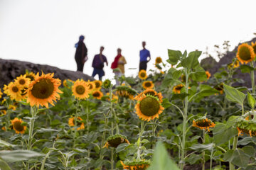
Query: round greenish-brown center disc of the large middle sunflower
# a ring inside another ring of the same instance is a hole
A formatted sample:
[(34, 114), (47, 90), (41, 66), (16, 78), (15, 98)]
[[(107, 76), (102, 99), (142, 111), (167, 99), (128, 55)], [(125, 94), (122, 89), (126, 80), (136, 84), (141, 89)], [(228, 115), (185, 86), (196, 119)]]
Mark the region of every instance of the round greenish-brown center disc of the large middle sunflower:
[(142, 114), (147, 116), (156, 115), (156, 113), (159, 112), (159, 108), (159, 101), (156, 101), (155, 98), (151, 98), (149, 96), (142, 99), (139, 104), (139, 109), (142, 111)]

